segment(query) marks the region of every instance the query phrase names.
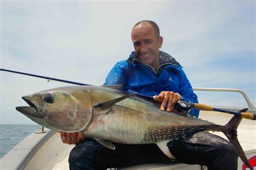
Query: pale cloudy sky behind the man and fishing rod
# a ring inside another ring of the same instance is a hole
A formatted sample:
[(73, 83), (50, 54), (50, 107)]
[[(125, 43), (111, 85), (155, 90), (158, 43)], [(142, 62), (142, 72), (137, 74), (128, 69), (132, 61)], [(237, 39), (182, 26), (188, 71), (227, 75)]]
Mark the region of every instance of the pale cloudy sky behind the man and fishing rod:
[[(131, 30), (154, 21), (161, 51), (193, 87), (239, 89), (256, 106), (255, 1), (0, 1), (1, 69), (102, 85), (133, 51)], [(35, 124), (22, 96), (70, 84), (0, 72), (0, 124)], [(197, 92), (199, 103), (248, 107), (239, 93)]]

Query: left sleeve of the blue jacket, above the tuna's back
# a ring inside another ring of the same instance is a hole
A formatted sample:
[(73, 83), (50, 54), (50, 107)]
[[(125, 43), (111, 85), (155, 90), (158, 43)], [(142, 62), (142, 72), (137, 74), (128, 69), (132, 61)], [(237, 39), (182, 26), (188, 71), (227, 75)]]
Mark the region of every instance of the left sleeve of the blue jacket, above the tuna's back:
[(104, 85), (122, 85), (120, 90), (123, 90), (126, 86), (127, 81), (127, 63), (125, 61), (120, 61), (116, 65), (113, 66), (113, 68), (110, 70), (109, 74), (107, 75), (105, 79)]

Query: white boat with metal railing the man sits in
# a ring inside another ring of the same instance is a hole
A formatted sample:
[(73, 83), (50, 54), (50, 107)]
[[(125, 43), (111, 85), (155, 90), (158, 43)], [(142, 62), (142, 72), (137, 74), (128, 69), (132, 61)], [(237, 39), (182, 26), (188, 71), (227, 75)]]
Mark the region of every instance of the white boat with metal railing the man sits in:
[[(194, 91), (221, 91), (221, 92), (238, 92), (244, 97), (248, 110), (247, 112), (256, 114), (247, 95), (237, 89), (212, 89), (212, 88), (193, 88)], [(225, 109), (228, 111), (238, 112), (242, 108), (231, 106), (215, 106), (214, 108)], [(214, 122), (219, 125), (225, 125), (233, 115), (214, 111), (200, 111), (199, 117), (204, 120)], [(238, 140), (244, 149), (247, 159), (256, 169), (256, 122), (248, 119), (242, 119), (238, 126)], [(210, 132), (213, 133), (213, 132)], [(220, 135), (227, 139), (221, 132), (214, 134)], [(35, 133), (30, 134), (24, 140), (19, 142), (1, 159), (1, 169), (69, 169), (69, 153), (75, 145), (63, 144), (60, 134), (44, 128), (38, 127)], [(130, 167), (112, 167), (110, 169), (206, 169), (205, 166), (187, 165), (187, 164), (142, 164)], [(238, 158), (238, 169), (247, 170), (244, 163)]]

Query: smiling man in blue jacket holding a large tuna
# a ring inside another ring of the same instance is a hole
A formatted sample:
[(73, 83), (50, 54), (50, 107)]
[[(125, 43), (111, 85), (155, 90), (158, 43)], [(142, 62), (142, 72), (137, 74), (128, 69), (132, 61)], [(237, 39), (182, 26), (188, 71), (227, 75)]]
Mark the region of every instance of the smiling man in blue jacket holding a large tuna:
[[(152, 21), (141, 21), (132, 29), (134, 52), (127, 61), (114, 65), (105, 85), (121, 84), (122, 90), (154, 96), (159, 94), (160, 109), (171, 111), (178, 100), (198, 103), (182, 67), (169, 54), (159, 51), (163, 44), (159, 28)], [(190, 114), (198, 117), (199, 111)], [(170, 113), (171, 114), (171, 113)], [(116, 144), (110, 150), (93, 139), (83, 139), (82, 132), (61, 133), (64, 143), (76, 144), (69, 157), (70, 169), (106, 169), (146, 162), (173, 161), (206, 165), (208, 169), (237, 169), (238, 154), (233, 145), (216, 135), (198, 132), (173, 139), (167, 144), (173, 159), (155, 144)], [(83, 142), (80, 142), (82, 141)]]

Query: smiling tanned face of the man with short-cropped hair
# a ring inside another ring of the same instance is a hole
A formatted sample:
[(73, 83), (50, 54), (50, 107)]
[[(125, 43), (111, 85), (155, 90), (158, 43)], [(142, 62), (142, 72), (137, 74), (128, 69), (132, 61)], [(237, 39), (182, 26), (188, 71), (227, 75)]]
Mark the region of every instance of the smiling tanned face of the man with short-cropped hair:
[(153, 69), (159, 66), (159, 48), (163, 38), (157, 38), (153, 26), (150, 24), (137, 25), (132, 30), (132, 43), (136, 56)]

